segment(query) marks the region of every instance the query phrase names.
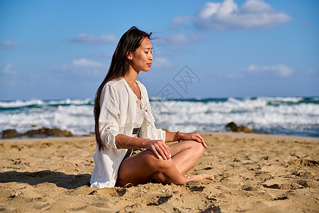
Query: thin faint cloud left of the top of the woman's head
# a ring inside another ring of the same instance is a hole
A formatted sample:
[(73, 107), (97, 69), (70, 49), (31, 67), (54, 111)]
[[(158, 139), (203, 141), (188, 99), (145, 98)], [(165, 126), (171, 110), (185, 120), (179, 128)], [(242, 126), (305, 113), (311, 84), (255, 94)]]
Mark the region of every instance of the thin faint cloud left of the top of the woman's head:
[(110, 44), (116, 43), (118, 38), (115, 35), (90, 35), (90, 34), (80, 34), (73, 38), (65, 38), (65, 41), (74, 42), (74, 43), (84, 43), (88, 45), (103, 45), (103, 44)]

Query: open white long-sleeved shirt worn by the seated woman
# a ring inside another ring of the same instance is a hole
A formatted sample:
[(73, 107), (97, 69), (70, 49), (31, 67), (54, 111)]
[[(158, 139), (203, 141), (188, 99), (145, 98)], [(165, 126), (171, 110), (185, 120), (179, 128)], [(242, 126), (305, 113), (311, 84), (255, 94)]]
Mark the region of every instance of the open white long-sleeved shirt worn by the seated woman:
[[(155, 119), (150, 109), (150, 101), (145, 86), (136, 81), (140, 87), (142, 109), (144, 109), (144, 121), (141, 126), (141, 138), (165, 141), (166, 133), (162, 129), (155, 128)], [(120, 167), (126, 151), (118, 148), (115, 140), (118, 134), (132, 136), (133, 121), (136, 117), (138, 97), (130, 89), (128, 83), (122, 77), (105, 84), (101, 92), (99, 116), (99, 133), (104, 143), (103, 151), (96, 146), (94, 154), (95, 167), (91, 176), (91, 187), (99, 189), (114, 187), (118, 178)]]

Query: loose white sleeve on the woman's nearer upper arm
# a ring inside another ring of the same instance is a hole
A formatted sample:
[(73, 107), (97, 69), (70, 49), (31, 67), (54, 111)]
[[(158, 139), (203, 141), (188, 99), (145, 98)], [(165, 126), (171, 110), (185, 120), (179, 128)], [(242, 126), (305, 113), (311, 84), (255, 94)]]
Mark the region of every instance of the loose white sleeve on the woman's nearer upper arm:
[(99, 133), (107, 148), (118, 148), (115, 140), (119, 133), (119, 99), (116, 89), (111, 85), (103, 87), (100, 99)]

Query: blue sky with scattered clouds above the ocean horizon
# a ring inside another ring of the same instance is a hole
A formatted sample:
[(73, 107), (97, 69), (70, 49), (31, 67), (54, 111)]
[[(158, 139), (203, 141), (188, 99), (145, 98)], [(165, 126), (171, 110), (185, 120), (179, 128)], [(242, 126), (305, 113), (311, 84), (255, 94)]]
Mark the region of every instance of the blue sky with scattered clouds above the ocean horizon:
[[(0, 100), (93, 98), (131, 26), (155, 38), (153, 66), (139, 75), (150, 97), (167, 84), (183, 98), (318, 96), (318, 6), (0, 0)], [(174, 80), (185, 65), (198, 78), (183, 89)]]

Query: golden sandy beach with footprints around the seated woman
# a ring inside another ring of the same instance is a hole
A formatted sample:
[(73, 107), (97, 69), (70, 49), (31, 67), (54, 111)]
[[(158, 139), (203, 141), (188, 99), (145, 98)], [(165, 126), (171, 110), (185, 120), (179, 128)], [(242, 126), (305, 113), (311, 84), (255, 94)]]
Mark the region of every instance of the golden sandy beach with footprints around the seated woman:
[(318, 212), (319, 138), (202, 133), (189, 175), (211, 182), (94, 190), (94, 137), (0, 141), (0, 212)]

